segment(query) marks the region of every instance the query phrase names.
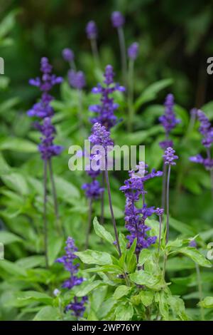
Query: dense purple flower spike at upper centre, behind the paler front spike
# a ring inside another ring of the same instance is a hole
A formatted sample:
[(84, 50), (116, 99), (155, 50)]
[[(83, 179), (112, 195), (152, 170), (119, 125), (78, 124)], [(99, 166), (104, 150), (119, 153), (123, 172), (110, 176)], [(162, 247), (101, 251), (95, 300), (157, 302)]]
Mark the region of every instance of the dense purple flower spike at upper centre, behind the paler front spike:
[(117, 103), (114, 103), (114, 98), (111, 98), (110, 95), (115, 91), (125, 91), (125, 88), (114, 83), (114, 71), (111, 65), (106, 66), (104, 78), (104, 83), (107, 87), (99, 84), (92, 89), (92, 93), (102, 94), (101, 103), (98, 105), (90, 105), (89, 110), (98, 114), (95, 118), (91, 118), (91, 122), (101, 123), (109, 130), (117, 123), (117, 117), (114, 115), (114, 112), (119, 107)]

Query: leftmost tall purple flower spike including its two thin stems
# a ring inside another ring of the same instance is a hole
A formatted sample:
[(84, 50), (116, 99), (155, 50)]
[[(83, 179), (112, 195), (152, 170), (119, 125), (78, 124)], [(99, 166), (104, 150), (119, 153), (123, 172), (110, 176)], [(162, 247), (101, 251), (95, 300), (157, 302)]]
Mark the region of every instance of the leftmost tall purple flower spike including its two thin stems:
[(43, 199), (43, 230), (44, 230), (44, 247), (45, 247), (45, 262), (46, 267), (48, 267), (48, 222), (47, 222), (47, 175), (48, 169), (51, 176), (51, 183), (53, 188), (53, 203), (55, 209), (55, 217), (58, 225), (58, 204), (57, 195), (55, 191), (55, 182), (53, 178), (53, 170), (51, 165), (51, 160), (53, 156), (60, 155), (62, 147), (60, 145), (54, 144), (55, 138), (55, 127), (52, 123), (52, 117), (54, 115), (54, 110), (50, 105), (53, 100), (53, 96), (50, 96), (50, 90), (58, 83), (62, 82), (62, 78), (52, 74), (52, 66), (50, 65), (48, 58), (43, 57), (40, 61), (40, 71), (42, 72), (41, 78), (31, 79), (29, 83), (33, 86), (40, 88), (42, 92), (41, 99), (38, 103), (35, 103), (33, 107), (28, 110), (28, 116), (36, 117), (38, 120), (34, 123), (35, 128), (40, 131), (41, 138), (40, 144), (38, 145), (38, 150), (42, 160), (44, 161), (44, 174), (43, 174), (43, 189), (44, 189), (44, 199)]

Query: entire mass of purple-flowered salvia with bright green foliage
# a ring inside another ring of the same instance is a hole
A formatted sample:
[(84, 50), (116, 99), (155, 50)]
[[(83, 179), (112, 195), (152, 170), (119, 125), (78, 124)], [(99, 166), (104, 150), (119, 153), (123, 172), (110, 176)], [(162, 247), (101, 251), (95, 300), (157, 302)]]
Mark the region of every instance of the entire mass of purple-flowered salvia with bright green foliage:
[[(212, 212), (211, 115), (207, 106), (187, 113), (172, 93), (152, 103), (170, 78), (137, 91), (143, 46), (126, 49), (125, 24), (111, 14), (117, 73), (99, 53), (94, 21), (85, 28), (88, 68), (67, 46), (64, 79), (41, 58), (41, 76), (29, 82), (41, 96), (30, 121), (24, 116), (25, 136), (0, 143), (0, 319), (213, 319), (212, 226), (201, 210), (207, 202)], [(91, 152), (77, 151), (86, 168), (68, 170), (70, 145), (86, 139)], [(108, 169), (115, 145), (144, 143), (146, 159), (132, 170)]]

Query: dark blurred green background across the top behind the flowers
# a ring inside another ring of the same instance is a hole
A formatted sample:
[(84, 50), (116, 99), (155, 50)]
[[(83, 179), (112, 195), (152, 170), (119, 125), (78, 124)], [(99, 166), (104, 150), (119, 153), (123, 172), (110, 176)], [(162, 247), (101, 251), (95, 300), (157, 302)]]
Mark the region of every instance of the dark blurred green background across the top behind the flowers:
[(133, 39), (140, 43), (137, 91), (160, 78), (174, 78), (177, 102), (200, 107), (212, 100), (212, 78), (206, 71), (213, 55), (212, 5), (211, 0), (1, 0), (1, 21), (11, 13), (9, 38), (0, 42), (11, 86), (1, 98), (18, 96), (23, 108), (31, 105), (35, 91), (28, 78), (38, 74), (40, 57), (48, 56), (55, 71), (65, 74), (61, 51), (67, 46), (75, 51), (78, 67), (86, 70), (90, 46), (84, 29), (90, 19), (99, 29), (103, 65), (110, 62), (118, 72), (119, 46), (110, 14), (120, 10), (126, 16), (127, 45)]

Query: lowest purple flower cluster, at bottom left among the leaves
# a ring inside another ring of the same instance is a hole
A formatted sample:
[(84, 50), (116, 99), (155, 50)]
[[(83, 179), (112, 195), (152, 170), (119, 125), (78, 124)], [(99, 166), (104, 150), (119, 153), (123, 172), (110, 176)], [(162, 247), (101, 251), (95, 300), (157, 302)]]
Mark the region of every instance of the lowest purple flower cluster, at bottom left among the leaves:
[[(55, 262), (63, 264), (65, 270), (70, 272), (70, 278), (65, 280), (65, 282), (62, 284), (62, 287), (66, 289), (72, 289), (72, 287), (82, 284), (84, 279), (75, 275), (77, 274), (80, 265), (74, 264), (75, 259), (77, 259), (77, 256), (75, 255), (75, 252), (77, 252), (77, 247), (75, 247), (75, 242), (72, 237), (67, 238), (66, 244), (65, 255), (58, 258)], [(72, 311), (72, 315), (74, 316), (82, 316), (85, 310), (84, 303), (86, 301), (87, 297), (82, 297), (80, 300), (78, 300), (77, 297), (74, 297), (73, 301), (71, 301), (70, 304), (66, 306), (65, 311)]]

